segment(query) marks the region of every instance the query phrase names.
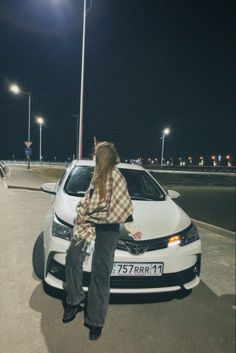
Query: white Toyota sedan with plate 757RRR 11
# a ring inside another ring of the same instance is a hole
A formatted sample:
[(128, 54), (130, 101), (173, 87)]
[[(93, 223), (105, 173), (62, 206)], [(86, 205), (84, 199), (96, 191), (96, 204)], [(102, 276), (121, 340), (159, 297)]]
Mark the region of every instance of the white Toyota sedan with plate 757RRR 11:
[[(137, 165), (118, 165), (134, 206), (133, 218), (143, 238), (130, 238), (120, 226), (111, 274), (111, 293), (157, 293), (189, 291), (200, 281), (201, 241), (196, 226), (154, 177)], [(94, 169), (90, 160), (74, 161), (58, 183), (42, 190), (55, 194), (45, 218), (43, 232), (33, 250), (37, 276), (48, 285), (64, 288), (66, 250), (72, 237), (76, 205), (87, 190)], [(92, 252), (84, 262), (83, 286), (90, 280)]]

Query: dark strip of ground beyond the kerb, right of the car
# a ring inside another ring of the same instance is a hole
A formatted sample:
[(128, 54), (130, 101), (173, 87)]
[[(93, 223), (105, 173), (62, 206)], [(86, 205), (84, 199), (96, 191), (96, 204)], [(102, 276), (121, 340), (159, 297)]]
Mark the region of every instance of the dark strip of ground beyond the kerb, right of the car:
[(191, 218), (236, 230), (236, 177), (234, 173), (159, 170), (152, 175), (181, 197), (175, 202)]

